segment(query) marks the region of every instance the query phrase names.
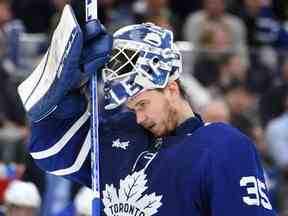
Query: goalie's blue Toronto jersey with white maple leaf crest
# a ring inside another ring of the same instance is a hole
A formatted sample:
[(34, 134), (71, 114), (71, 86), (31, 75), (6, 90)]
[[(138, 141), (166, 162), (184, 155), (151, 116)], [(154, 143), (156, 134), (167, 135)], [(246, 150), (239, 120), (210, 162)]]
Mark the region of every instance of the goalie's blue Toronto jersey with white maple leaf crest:
[[(32, 124), (30, 152), (55, 175), (91, 186), (88, 112)], [(254, 144), (224, 123), (192, 117), (154, 139), (135, 116), (100, 121), (102, 214), (271, 216)]]

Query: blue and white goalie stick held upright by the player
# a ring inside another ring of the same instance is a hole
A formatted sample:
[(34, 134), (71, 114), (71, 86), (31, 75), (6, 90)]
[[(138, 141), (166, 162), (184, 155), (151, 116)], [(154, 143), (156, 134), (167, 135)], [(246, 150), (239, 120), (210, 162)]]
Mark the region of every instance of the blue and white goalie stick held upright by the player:
[[(88, 22), (98, 18), (97, 0), (85, 0), (86, 19)], [(98, 140), (98, 98), (97, 98), (97, 73), (90, 80), (91, 97), (91, 178), (92, 178), (92, 216), (100, 216), (100, 167), (99, 167), (99, 140)]]

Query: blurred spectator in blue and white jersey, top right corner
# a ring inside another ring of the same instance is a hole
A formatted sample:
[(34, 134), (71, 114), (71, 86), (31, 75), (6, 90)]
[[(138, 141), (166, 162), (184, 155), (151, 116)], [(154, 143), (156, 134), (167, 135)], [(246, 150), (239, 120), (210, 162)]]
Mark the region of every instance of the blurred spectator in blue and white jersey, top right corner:
[[(250, 62), (258, 61), (270, 70), (277, 70), (280, 52), (288, 48), (288, 33), (275, 12), (273, 0), (243, 0), (234, 13), (245, 23)], [(279, 4), (280, 5), (280, 4)], [(283, 10), (284, 11), (284, 10)], [(277, 49), (277, 50), (276, 50)]]

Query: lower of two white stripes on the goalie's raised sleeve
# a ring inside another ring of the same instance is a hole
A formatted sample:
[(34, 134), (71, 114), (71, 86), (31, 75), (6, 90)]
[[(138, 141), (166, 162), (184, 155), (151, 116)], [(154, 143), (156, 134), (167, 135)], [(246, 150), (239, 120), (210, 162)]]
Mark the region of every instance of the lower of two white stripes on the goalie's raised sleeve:
[(52, 172), (49, 172), (52, 175), (57, 175), (57, 176), (64, 176), (64, 175), (70, 175), (72, 173), (75, 173), (77, 171), (79, 171), (83, 165), (83, 163), (85, 162), (89, 151), (90, 151), (90, 147), (91, 147), (91, 142), (90, 142), (90, 130), (87, 133), (87, 136), (85, 138), (85, 141), (81, 147), (81, 150), (75, 160), (75, 162), (72, 164), (72, 166), (68, 167), (68, 168), (64, 168), (64, 169), (60, 169), (60, 170), (54, 170)]

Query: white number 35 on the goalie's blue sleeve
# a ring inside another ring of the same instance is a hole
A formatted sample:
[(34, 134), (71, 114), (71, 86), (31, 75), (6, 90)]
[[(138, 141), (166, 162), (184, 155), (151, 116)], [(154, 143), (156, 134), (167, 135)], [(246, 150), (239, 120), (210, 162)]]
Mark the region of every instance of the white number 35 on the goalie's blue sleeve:
[(247, 195), (243, 196), (242, 200), (247, 205), (262, 205), (264, 208), (271, 210), (272, 206), (265, 193), (266, 186), (255, 176), (242, 177), (240, 180), (240, 186), (246, 187)]

